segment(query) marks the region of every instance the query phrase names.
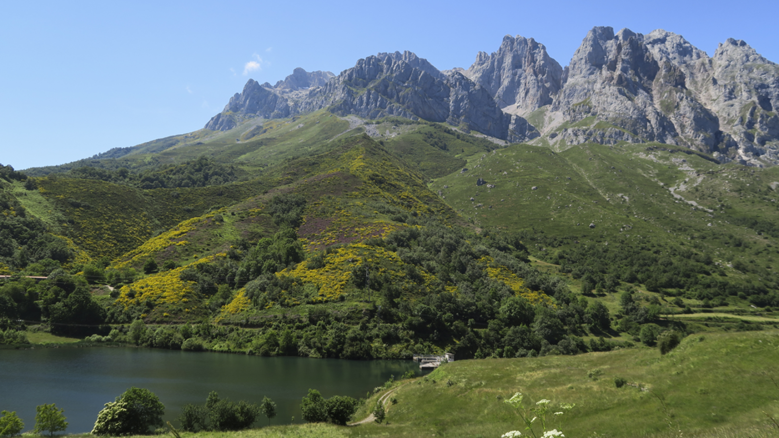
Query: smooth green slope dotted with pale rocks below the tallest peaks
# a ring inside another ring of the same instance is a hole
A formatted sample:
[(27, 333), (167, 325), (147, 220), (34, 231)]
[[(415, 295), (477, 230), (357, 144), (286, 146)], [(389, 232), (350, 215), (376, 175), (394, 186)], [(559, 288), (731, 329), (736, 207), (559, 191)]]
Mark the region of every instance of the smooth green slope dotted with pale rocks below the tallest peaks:
[[(779, 179), (773, 168), (717, 165), (696, 154), (650, 151), (644, 145), (576, 146), (562, 153), (513, 145), (471, 156), (467, 168), (430, 187), (480, 226), (532, 228), (572, 239), (567, 245), (573, 239), (689, 245), (723, 264), (758, 259), (767, 264), (779, 253), (779, 238), (728, 221), (736, 216), (779, 221), (779, 196), (768, 187)], [(477, 187), (477, 178), (495, 188)], [(714, 211), (693, 209), (685, 200)], [(727, 207), (715, 210), (717, 205)], [(731, 241), (746, 245), (728, 245)]]

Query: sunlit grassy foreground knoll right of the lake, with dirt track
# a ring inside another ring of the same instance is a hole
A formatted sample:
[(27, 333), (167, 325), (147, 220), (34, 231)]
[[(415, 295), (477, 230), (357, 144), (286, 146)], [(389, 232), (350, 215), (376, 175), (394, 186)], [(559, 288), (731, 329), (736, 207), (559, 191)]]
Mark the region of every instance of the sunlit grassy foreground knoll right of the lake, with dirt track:
[[(390, 426), (362, 434), (500, 436), (519, 429), (503, 400), (522, 392), (530, 404), (576, 403), (565, 415), (566, 436), (771, 436), (763, 411), (779, 416), (777, 359), (772, 330), (693, 335), (665, 356), (630, 349), (453, 362), (398, 390)], [(588, 377), (596, 369), (600, 376)], [(617, 388), (617, 376), (637, 386)]]

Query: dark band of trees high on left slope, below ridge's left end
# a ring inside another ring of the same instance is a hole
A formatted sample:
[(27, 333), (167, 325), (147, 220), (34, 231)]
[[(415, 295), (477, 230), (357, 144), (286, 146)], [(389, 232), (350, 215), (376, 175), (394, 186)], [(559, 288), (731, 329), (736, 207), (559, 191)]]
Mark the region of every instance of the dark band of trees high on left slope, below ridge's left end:
[(182, 164), (160, 164), (137, 173), (128, 168), (83, 166), (62, 175), (66, 178), (99, 179), (139, 189), (175, 189), (224, 185), (237, 181), (239, 174), (241, 170), (231, 164), (221, 164), (202, 156)]

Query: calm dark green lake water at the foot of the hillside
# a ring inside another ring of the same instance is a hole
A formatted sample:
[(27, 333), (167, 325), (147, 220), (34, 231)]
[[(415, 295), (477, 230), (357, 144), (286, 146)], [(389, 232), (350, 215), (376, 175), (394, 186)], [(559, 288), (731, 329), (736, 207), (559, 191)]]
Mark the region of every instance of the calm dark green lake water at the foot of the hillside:
[[(301, 422), (300, 401), (308, 388), (324, 397), (365, 397), (390, 375), (408, 370), (408, 361), (263, 358), (149, 348), (37, 348), (0, 350), (0, 410), (16, 411), (25, 430), (35, 426), (38, 404), (65, 408), (67, 433), (92, 430), (97, 412), (129, 387), (151, 390), (165, 405), (164, 420), (174, 420), (183, 404), (206, 401), (216, 390), (232, 401), (277, 404), (271, 424)], [(258, 426), (266, 425), (260, 415)]]

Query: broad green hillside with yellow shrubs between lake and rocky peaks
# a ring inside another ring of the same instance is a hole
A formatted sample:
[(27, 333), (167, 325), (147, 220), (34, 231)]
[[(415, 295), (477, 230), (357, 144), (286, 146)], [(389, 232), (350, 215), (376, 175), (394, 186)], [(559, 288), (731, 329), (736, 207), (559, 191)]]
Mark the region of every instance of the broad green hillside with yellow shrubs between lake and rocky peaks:
[(50, 237), (2, 269), (71, 286), (6, 281), (3, 312), (73, 323), (57, 306), (89, 291), (79, 309), (118, 341), (512, 358), (779, 323), (777, 171), (678, 147), (501, 147), (317, 111), (6, 173), (12, 245)]

